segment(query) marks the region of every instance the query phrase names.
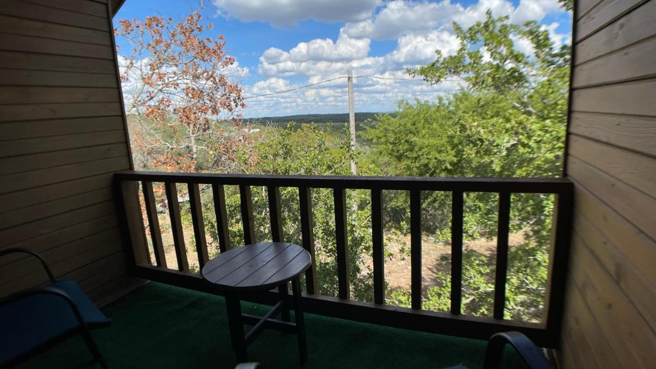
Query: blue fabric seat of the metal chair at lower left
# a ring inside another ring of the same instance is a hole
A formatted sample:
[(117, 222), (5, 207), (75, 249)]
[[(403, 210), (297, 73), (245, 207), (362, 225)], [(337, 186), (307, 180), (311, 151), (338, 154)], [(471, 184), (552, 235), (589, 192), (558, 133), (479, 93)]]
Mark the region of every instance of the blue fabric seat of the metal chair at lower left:
[[(67, 293), (89, 328), (105, 326), (102, 315), (77, 283), (54, 282), (50, 287)], [(77, 318), (61, 297), (41, 293), (0, 306), (0, 366), (77, 328)]]

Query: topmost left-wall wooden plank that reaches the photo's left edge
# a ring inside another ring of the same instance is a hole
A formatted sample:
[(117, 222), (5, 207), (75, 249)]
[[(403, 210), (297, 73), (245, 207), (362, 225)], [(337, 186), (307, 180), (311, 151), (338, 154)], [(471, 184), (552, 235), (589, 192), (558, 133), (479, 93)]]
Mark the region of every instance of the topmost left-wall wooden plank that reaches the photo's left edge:
[(3, 0), (0, 2), (0, 14), (17, 16), (31, 20), (43, 20), (55, 24), (65, 24), (92, 30), (110, 31), (107, 16), (91, 16), (79, 12), (64, 11), (43, 5), (23, 3), (16, 0)]

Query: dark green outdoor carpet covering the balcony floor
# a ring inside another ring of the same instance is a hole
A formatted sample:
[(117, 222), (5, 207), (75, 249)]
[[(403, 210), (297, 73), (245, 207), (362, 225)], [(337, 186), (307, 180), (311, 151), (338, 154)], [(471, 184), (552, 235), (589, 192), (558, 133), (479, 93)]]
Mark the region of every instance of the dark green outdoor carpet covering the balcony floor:
[[(268, 307), (242, 302), (244, 313)], [(151, 282), (104, 307), (110, 328), (92, 335), (110, 368), (234, 368), (222, 297)], [(249, 326), (248, 326), (249, 328)], [(480, 368), (485, 341), (306, 314), (305, 368)], [(266, 368), (298, 368), (297, 338), (272, 330), (249, 347)], [(98, 368), (80, 337), (20, 368)]]

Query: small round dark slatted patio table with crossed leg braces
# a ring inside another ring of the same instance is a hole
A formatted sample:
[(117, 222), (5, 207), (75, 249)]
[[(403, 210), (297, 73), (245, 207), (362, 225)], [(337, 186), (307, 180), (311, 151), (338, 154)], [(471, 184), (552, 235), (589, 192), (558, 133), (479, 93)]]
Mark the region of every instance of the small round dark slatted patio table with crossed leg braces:
[[(310, 253), (298, 245), (261, 242), (228, 250), (205, 264), (201, 270), (203, 278), (224, 292), (230, 337), (238, 362), (248, 361), (246, 348), (264, 328), (269, 328), (297, 334), (300, 364), (305, 363), (308, 354), (300, 274), (306, 271), (311, 263)], [(291, 322), (289, 317), (288, 282), (292, 285), (295, 323)], [(278, 289), (279, 301), (266, 315), (241, 313), (240, 292), (266, 292), (272, 288)], [(281, 320), (276, 319), (277, 315), (281, 316)], [(253, 326), (245, 335), (243, 324)]]

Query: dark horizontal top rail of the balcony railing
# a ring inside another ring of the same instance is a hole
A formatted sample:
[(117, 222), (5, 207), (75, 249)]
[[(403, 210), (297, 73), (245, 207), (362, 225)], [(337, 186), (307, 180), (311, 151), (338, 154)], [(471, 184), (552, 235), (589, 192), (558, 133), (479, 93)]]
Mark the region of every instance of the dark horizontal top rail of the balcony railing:
[(571, 191), (565, 178), (480, 178), (480, 177), (373, 177), (330, 175), (260, 175), (120, 171), (119, 181), (203, 183), (219, 185), (349, 188), (381, 190), (428, 190), (464, 192), (516, 192), (562, 194)]

